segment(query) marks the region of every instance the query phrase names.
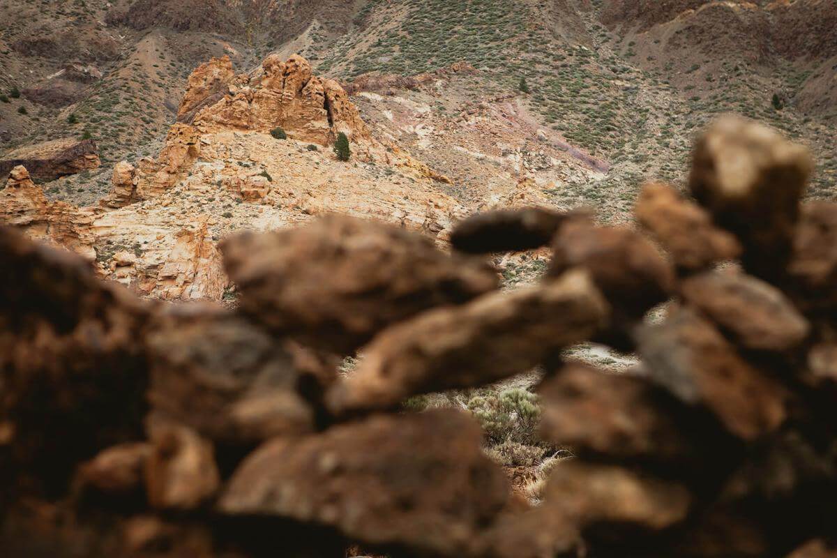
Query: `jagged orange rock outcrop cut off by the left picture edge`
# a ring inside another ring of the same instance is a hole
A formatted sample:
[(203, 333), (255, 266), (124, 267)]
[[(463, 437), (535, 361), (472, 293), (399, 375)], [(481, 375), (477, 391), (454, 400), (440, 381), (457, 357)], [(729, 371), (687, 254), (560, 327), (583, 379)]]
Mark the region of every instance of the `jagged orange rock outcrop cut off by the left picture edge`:
[(0, 224), (20, 228), (31, 238), (58, 244), (92, 261), (96, 257), (90, 231), (95, 213), (67, 202), (49, 202), (23, 166), (16, 166), (0, 190)]

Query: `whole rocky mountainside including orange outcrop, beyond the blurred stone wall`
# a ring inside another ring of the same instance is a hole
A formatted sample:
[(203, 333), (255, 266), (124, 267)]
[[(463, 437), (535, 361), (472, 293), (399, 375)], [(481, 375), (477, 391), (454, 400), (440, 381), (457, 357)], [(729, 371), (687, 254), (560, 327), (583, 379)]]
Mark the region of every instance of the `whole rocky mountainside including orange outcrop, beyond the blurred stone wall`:
[[(250, 214), (281, 205), (275, 182), (303, 216), (424, 223), (435, 202), (434, 233), (457, 212), (527, 203), (592, 204), (619, 222), (645, 178), (683, 177), (692, 136), (732, 110), (808, 144), (809, 196), (829, 198), (834, 18), (828, 0), (12, 0), (0, 7), (0, 168), (46, 141), (92, 142), (84, 156), (100, 166), (28, 167), (47, 202), (90, 207), (107, 230), (199, 213), (210, 239), (294, 222)], [(265, 76), (296, 53), (321, 77), (277, 113), (285, 77)], [(328, 147), (340, 86), (358, 111), (347, 130), (362, 159), (348, 166)], [(277, 119), (288, 141), (267, 135)], [(105, 268), (145, 253), (119, 234), (96, 250)]]

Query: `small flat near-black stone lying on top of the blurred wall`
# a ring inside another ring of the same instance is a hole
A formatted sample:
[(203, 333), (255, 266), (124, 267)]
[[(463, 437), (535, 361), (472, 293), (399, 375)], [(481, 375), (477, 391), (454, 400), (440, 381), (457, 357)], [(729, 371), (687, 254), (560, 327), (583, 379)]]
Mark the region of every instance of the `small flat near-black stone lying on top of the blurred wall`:
[(566, 216), (543, 207), (478, 213), (458, 223), (450, 243), (460, 252), (491, 253), (546, 246)]

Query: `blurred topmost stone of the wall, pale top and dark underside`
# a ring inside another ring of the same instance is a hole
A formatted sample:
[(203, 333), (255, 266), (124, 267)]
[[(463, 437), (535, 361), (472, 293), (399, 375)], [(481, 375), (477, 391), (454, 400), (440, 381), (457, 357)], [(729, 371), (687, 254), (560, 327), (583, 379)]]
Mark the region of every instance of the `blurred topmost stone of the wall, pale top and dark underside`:
[(716, 223), (735, 233), (752, 274), (780, 273), (790, 258), (799, 199), (813, 169), (804, 146), (725, 116), (696, 142), (689, 187)]

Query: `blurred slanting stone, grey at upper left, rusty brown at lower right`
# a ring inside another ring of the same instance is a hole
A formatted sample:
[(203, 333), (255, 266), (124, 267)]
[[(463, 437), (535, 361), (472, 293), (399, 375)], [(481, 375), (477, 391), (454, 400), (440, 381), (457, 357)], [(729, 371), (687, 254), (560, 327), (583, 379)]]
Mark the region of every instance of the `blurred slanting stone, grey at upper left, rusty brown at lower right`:
[(753, 440), (787, 417), (787, 392), (738, 355), (694, 310), (639, 330), (639, 352), (650, 377), (681, 401), (711, 410), (729, 432)]

